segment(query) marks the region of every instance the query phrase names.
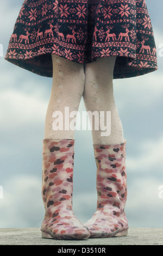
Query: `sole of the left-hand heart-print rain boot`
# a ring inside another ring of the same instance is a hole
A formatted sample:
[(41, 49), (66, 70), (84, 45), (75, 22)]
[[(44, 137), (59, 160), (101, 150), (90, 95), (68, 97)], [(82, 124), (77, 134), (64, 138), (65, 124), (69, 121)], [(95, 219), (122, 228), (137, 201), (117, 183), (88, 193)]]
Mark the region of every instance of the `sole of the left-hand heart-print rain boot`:
[(55, 239), (55, 240), (84, 240), (90, 237), (90, 234), (53, 234), (51, 231), (47, 229), (41, 229), (42, 231), (42, 237), (43, 238), (49, 238), (49, 239)]

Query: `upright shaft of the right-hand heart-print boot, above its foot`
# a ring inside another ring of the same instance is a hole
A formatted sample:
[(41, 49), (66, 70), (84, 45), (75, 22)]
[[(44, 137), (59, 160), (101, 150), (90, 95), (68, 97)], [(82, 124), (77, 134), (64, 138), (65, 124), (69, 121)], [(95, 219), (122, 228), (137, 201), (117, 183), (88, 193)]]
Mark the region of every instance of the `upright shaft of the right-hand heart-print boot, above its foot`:
[(121, 215), (127, 200), (126, 140), (117, 145), (93, 144), (97, 166), (97, 208), (110, 205)]

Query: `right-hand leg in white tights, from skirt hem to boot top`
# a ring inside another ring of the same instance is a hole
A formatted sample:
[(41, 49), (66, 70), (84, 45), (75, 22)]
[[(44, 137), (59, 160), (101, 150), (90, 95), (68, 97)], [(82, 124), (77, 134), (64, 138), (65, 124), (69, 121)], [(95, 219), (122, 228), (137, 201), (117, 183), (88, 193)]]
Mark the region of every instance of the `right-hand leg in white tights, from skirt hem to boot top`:
[[(92, 129), (94, 144), (118, 144), (124, 141), (123, 127), (116, 108), (113, 93), (113, 70), (116, 57), (97, 58), (96, 62), (85, 64), (85, 87), (83, 100), (86, 111), (111, 111), (111, 133), (101, 136), (103, 132)], [(100, 113), (99, 113), (100, 114)], [(93, 122), (92, 122), (93, 123)], [(106, 125), (106, 124), (105, 124)], [(110, 124), (109, 124), (110, 125)]]

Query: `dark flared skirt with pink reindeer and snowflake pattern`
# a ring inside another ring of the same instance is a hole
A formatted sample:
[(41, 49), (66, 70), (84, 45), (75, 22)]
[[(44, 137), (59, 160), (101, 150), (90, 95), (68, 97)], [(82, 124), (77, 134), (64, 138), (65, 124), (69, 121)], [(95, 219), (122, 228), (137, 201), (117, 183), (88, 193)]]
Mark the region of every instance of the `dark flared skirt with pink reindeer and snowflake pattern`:
[(116, 56), (114, 78), (157, 70), (145, 0), (25, 0), (5, 59), (52, 77), (51, 54), (81, 64)]

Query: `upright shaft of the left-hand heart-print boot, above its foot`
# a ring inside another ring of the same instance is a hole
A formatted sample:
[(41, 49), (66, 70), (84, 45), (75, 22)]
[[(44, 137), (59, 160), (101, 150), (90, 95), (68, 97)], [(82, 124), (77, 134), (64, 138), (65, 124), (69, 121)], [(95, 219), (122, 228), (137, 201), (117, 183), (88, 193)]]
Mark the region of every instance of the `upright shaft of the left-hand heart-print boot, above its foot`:
[(74, 139), (43, 139), (42, 143), (42, 199), (46, 212), (65, 204), (71, 209)]

